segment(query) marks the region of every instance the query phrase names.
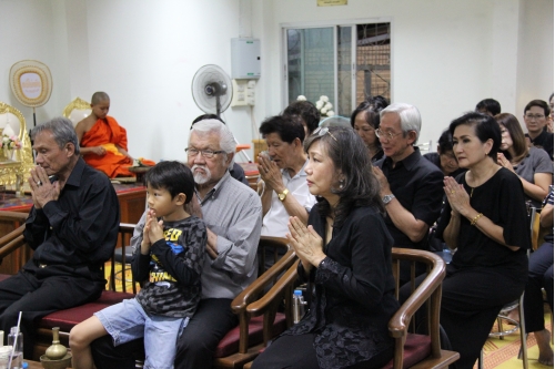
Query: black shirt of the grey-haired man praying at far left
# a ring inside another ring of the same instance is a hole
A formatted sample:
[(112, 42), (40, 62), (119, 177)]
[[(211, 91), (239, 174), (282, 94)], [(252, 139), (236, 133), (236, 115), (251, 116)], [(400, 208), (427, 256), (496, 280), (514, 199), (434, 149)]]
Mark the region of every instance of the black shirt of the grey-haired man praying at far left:
[(101, 280), (100, 267), (112, 256), (119, 225), (120, 204), (110, 178), (80, 157), (58, 199), (29, 213), (23, 235), (34, 254), (24, 269), (42, 264), (59, 274)]

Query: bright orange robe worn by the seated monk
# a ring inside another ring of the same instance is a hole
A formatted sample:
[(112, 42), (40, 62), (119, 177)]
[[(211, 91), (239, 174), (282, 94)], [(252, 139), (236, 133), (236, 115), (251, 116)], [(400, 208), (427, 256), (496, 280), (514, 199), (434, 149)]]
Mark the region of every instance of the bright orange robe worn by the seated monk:
[(133, 165), (133, 161), (120, 153), (115, 145), (128, 151), (128, 133), (111, 116), (103, 120), (99, 119), (81, 139), (81, 146), (83, 147), (103, 146), (105, 148), (105, 155), (103, 156), (95, 154), (83, 155), (87, 164), (104, 172), (110, 178), (134, 176), (133, 173), (128, 171), (128, 167)]

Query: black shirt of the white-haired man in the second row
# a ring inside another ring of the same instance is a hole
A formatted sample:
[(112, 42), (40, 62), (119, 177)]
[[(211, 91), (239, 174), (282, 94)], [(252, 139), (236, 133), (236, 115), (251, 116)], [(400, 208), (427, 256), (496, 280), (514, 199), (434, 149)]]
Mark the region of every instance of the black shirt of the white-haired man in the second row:
[[(384, 157), (375, 165), (382, 168), (393, 195), (401, 205), (416, 219), (423, 221), (428, 226), (433, 225), (442, 209), (444, 194), (442, 171), (422, 157), (418, 147), (414, 147), (414, 153), (396, 163), (395, 167), (391, 157)], [(389, 215), (385, 224), (395, 240), (395, 247), (428, 249), (427, 237), (413, 243), (407, 235), (395, 227)]]

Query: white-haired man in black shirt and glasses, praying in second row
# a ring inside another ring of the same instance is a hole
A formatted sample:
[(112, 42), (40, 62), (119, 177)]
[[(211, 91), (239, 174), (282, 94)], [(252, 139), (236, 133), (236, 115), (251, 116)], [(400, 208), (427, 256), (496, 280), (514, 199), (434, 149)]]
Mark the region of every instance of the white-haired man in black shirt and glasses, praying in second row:
[[(418, 147), (422, 121), (416, 106), (395, 103), (380, 112), (380, 139), (385, 157), (375, 163), (387, 216), (385, 224), (395, 247), (427, 249), (427, 234), (441, 213), (443, 173)], [(410, 279), (407, 267), (401, 280)]]

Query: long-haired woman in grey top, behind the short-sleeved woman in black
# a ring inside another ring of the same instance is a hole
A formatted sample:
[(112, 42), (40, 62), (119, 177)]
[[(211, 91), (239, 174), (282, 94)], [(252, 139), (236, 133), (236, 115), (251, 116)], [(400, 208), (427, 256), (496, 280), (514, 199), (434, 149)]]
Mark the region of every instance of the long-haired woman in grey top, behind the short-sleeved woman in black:
[(497, 164), (506, 167), (521, 178), (526, 201), (539, 207), (549, 193), (553, 183), (553, 162), (545, 150), (528, 147), (521, 123), (513, 114), (494, 116), (501, 126), (501, 153)]

